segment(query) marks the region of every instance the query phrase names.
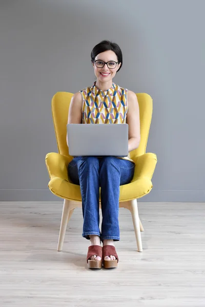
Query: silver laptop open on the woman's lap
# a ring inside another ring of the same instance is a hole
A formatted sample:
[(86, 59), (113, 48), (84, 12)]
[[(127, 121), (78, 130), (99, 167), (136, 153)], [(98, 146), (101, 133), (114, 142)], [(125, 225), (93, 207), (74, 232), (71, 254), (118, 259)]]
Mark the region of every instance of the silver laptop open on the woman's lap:
[(128, 156), (128, 124), (67, 124), (69, 155)]

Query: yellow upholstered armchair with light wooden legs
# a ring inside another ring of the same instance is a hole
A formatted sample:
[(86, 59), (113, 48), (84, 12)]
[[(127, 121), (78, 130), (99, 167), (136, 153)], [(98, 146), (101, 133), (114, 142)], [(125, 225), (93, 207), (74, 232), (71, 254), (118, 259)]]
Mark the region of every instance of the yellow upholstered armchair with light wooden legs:
[[(152, 98), (145, 93), (136, 94), (140, 113), (140, 144), (130, 152), (135, 162), (134, 177), (129, 184), (120, 186), (119, 207), (131, 211), (137, 250), (142, 252), (140, 230), (144, 231), (139, 220), (137, 199), (148, 194), (152, 189), (152, 176), (156, 166), (155, 153), (146, 153), (147, 140), (152, 119)], [(68, 164), (73, 159), (68, 153), (66, 142), (67, 119), (72, 93), (58, 92), (53, 96), (51, 107), (58, 153), (46, 155), (46, 166), (50, 181), (49, 189), (53, 194), (64, 199), (57, 250), (63, 248), (67, 224), (76, 207), (81, 207), (80, 186), (71, 182), (68, 175)], [(100, 199), (99, 199), (100, 202)], [(101, 206), (101, 204), (100, 204)]]

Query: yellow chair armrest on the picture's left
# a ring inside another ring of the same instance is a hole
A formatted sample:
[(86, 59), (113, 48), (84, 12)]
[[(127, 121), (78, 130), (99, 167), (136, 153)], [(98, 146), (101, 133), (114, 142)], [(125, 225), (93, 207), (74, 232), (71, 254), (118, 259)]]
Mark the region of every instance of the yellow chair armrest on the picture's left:
[(68, 164), (71, 160), (72, 157), (63, 156), (60, 155), (60, 153), (47, 153), (45, 162), (50, 179), (59, 177), (61, 179), (70, 181), (68, 178)]

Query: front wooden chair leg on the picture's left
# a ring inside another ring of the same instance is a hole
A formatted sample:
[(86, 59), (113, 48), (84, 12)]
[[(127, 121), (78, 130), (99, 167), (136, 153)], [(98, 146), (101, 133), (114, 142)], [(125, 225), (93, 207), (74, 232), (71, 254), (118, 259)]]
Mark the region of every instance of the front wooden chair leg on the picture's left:
[(59, 232), (58, 246), (57, 246), (58, 252), (61, 251), (63, 248), (66, 228), (68, 225), (68, 221), (70, 220), (70, 217), (73, 213), (73, 210), (74, 209), (70, 210), (70, 201), (64, 200), (64, 207), (63, 207), (63, 212), (62, 212), (62, 217), (61, 217), (60, 232)]

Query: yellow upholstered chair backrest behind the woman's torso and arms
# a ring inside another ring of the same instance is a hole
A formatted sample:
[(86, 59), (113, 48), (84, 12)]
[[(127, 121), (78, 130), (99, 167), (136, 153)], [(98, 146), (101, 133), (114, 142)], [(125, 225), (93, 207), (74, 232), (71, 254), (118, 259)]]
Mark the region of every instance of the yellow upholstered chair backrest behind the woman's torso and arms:
[[(146, 93), (138, 93), (136, 95), (140, 113), (140, 144), (137, 149), (130, 152), (131, 159), (134, 156), (140, 156), (146, 152), (153, 108), (152, 98), (150, 95)], [(64, 156), (69, 156), (66, 142), (66, 125), (68, 122), (68, 111), (72, 96), (72, 93), (57, 92), (53, 96), (51, 103), (58, 152)]]

